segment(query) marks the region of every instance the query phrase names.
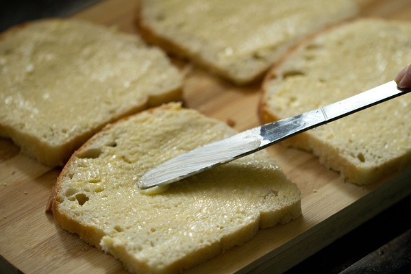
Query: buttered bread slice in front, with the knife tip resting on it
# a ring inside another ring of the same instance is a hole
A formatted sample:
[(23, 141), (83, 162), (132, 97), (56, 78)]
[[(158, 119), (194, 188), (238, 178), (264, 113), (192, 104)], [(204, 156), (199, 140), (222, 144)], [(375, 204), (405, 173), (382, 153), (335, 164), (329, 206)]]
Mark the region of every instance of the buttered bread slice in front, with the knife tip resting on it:
[(177, 103), (105, 127), (58, 177), (49, 209), (62, 227), (119, 258), (132, 273), (177, 273), (241, 245), (258, 228), (301, 214), (300, 192), (260, 151), (171, 184), (136, 188), (154, 166), (234, 134)]

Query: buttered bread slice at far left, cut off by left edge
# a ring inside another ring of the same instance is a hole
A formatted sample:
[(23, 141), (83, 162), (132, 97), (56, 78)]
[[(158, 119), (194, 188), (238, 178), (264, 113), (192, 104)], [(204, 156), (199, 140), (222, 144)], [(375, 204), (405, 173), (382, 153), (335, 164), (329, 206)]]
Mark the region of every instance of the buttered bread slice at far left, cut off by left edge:
[(0, 136), (63, 165), (103, 125), (182, 99), (182, 76), (136, 35), (47, 19), (0, 37)]

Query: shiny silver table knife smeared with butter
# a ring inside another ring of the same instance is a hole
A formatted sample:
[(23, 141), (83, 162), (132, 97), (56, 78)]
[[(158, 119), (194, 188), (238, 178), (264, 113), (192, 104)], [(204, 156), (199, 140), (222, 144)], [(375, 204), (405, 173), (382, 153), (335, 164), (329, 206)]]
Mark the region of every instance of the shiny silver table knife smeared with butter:
[(164, 186), (213, 166), (236, 160), (301, 132), (335, 121), (354, 112), (388, 101), (411, 91), (397, 87), (394, 81), (366, 90), (316, 110), (248, 129), (234, 136), (211, 142), (154, 167), (142, 175), (141, 190)]

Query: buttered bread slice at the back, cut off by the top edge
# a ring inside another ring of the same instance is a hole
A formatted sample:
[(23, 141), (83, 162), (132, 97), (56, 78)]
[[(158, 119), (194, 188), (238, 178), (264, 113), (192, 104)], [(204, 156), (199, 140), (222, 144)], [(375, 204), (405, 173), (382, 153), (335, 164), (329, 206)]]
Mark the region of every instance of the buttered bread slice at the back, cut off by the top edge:
[(351, 0), (143, 0), (138, 25), (166, 51), (247, 84), (303, 37), (357, 12)]

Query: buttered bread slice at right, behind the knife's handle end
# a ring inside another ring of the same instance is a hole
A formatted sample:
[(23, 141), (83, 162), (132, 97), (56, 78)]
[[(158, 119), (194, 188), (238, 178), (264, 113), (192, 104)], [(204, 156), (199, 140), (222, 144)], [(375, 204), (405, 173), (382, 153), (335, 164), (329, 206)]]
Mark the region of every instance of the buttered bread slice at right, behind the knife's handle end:
[[(264, 80), (264, 123), (319, 108), (392, 81), (411, 60), (411, 23), (362, 19), (321, 32)], [(369, 184), (411, 166), (411, 97), (323, 125), (288, 141), (347, 181)]]

